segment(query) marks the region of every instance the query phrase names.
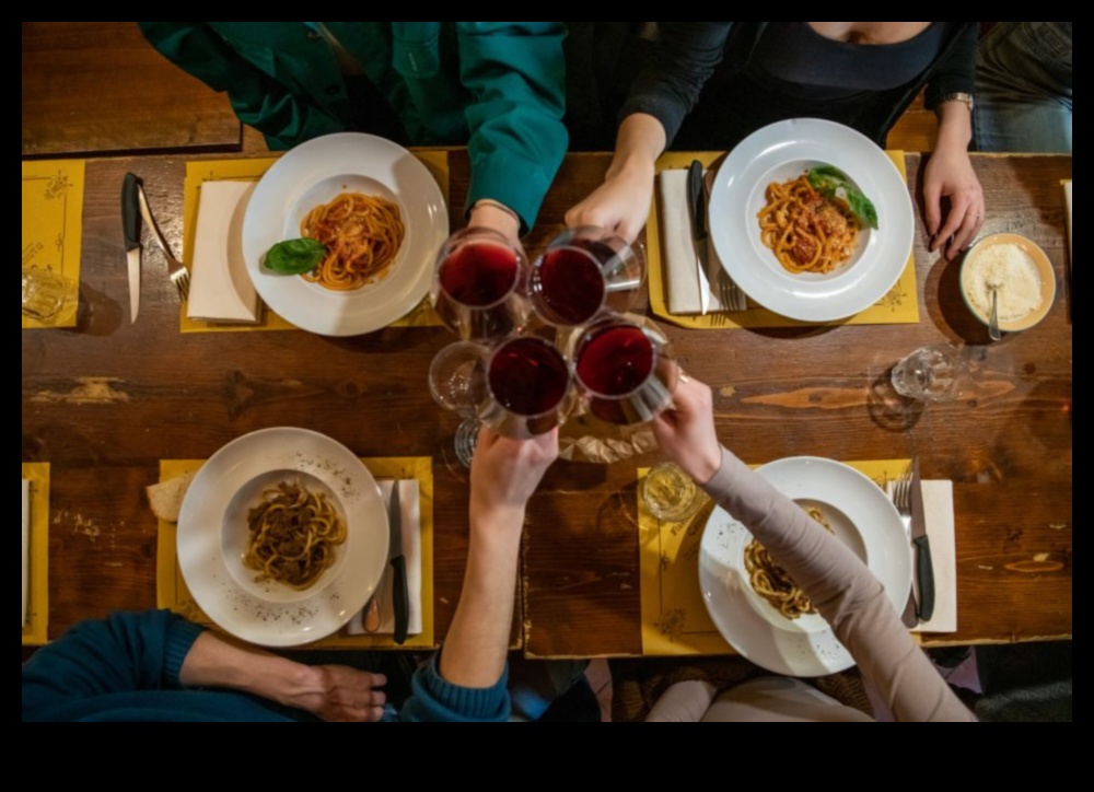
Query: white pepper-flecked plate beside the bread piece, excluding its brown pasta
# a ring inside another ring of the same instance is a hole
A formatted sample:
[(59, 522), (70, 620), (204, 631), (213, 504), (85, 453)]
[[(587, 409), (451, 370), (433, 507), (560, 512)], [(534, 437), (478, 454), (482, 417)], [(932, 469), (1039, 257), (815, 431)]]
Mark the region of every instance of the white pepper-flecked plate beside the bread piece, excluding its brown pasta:
[[(279, 475), (280, 474), (280, 475)], [(258, 584), (242, 569), (246, 508), (264, 484), (298, 478), (335, 503), (349, 533), (335, 566), (305, 592)], [(236, 515), (233, 517), (232, 515)], [(375, 592), (387, 566), (387, 509), (346, 446), (304, 429), (266, 429), (218, 451), (194, 478), (178, 517), (178, 568), (194, 599), (226, 632), (261, 647), (299, 647), (337, 632)]]

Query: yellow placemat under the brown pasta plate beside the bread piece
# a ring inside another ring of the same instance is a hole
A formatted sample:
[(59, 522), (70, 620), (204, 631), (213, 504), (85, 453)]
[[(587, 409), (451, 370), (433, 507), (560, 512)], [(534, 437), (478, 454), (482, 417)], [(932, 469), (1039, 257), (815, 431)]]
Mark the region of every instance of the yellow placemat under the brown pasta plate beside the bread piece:
[[(418, 481), (421, 509), (421, 610), (422, 632), (411, 636), (400, 649), (435, 649), (433, 637), (433, 464), (429, 457), (361, 459), (377, 479), (414, 478)], [(176, 476), (198, 470), (205, 462), (200, 459), (162, 459), (160, 480), (167, 481)], [(24, 467), (25, 469), (25, 467)], [(156, 602), (158, 607), (176, 614), (206, 627), (214, 627), (194, 601), (183, 573), (178, 569), (175, 554), (175, 525), (160, 521), (159, 547), (156, 549)], [(391, 636), (347, 636), (338, 632), (310, 649), (395, 649)]]

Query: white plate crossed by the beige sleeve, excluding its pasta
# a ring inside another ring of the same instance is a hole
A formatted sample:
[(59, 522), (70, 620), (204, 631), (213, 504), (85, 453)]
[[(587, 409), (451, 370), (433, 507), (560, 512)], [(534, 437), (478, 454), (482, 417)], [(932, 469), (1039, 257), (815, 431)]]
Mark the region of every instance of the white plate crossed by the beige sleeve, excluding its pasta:
[[(911, 590), (911, 547), (899, 513), (876, 484), (852, 467), (816, 457), (781, 459), (757, 473), (800, 505), (821, 506), (836, 536), (903, 612)], [(702, 535), (699, 585), (726, 642), (756, 665), (785, 676), (824, 676), (854, 665), (821, 616), (792, 621), (755, 592), (744, 560), (752, 538), (722, 509), (710, 515)]]

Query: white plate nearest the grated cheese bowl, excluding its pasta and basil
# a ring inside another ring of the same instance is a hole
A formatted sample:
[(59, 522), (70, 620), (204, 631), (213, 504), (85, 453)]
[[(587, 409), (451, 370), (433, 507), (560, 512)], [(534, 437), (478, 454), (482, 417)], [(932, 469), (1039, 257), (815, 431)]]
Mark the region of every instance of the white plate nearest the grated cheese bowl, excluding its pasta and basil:
[[(859, 249), (828, 275), (787, 271), (760, 240), (757, 214), (772, 182), (816, 165), (846, 173), (877, 209), (878, 228), (860, 233)], [(801, 322), (837, 322), (865, 311), (900, 279), (915, 234), (908, 187), (875, 143), (831, 121), (779, 121), (743, 140), (718, 170), (710, 195), (710, 233), (725, 271), (755, 302)]]

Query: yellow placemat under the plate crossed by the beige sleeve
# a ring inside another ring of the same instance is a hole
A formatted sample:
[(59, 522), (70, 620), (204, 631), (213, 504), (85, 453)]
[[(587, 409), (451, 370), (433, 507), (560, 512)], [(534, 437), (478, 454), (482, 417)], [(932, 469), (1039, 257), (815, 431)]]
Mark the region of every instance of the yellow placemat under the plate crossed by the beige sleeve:
[[(847, 463), (880, 487), (905, 473), (910, 459)], [(639, 479), (649, 470), (638, 471)], [(641, 488), (639, 488), (641, 489)], [(642, 653), (649, 656), (732, 654), (707, 614), (699, 590), (699, 547), (709, 509), (689, 523), (663, 523), (638, 497), (641, 543)]]

